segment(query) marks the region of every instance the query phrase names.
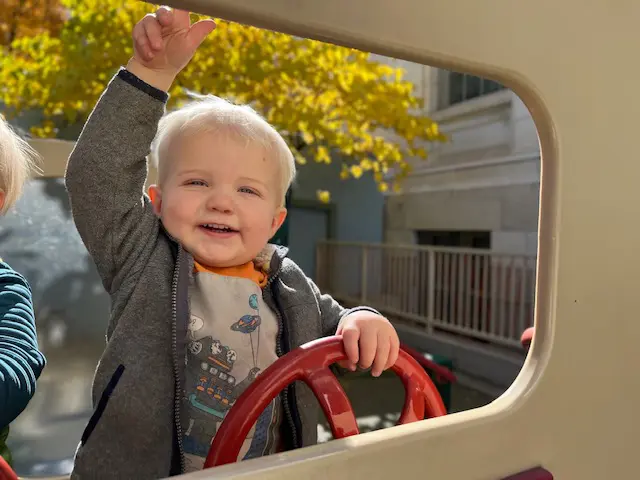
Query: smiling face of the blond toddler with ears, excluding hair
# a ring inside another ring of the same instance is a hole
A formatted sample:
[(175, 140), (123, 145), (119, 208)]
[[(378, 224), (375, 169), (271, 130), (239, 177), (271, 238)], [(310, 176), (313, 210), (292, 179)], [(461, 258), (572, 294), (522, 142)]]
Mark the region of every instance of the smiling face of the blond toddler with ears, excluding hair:
[(204, 265), (253, 260), (286, 216), (275, 160), (211, 133), (176, 138), (165, 155), (162, 186), (149, 193), (169, 234)]

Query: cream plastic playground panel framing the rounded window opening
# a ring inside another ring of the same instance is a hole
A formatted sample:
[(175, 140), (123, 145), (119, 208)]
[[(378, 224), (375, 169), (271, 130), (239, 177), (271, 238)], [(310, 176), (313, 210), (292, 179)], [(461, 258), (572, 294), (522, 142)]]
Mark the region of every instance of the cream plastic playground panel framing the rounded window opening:
[(500, 80), (544, 156), (536, 340), (502, 397), (185, 478), (490, 480), (538, 465), (561, 480), (637, 478), (640, 380), (617, 369), (639, 359), (640, 2), (169, 3)]

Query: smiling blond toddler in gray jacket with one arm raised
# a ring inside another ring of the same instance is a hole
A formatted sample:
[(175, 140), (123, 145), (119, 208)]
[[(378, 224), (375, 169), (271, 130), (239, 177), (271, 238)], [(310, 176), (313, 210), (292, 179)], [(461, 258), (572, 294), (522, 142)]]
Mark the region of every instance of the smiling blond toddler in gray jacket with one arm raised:
[[(160, 8), (133, 30), (69, 159), (74, 221), (112, 299), (95, 412), (73, 478), (200, 470), (235, 400), (279, 356), (341, 334), (344, 366), (379, 375), (392, 325), (345, 309), (268, 243), (295, 174), (278, 132), (248, 106), (209, 98), (163, 117), (176, 75), (213, 30)], [(142, 190), (153, 144), (158, 182)], [(262, 413), (241, 459), (313, 445), (319, 408), (291, 385)]]

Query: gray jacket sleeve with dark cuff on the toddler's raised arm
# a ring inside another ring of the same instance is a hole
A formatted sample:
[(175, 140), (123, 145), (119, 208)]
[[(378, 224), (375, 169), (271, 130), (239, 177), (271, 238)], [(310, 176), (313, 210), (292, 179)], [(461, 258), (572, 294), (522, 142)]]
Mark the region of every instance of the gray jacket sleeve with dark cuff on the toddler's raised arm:
[(158, 234), (159, 220), (143, 190), (167, 98), (121, 69), (69, 157), (65, 184), (73, 219), (109, 293), (137, 271)]

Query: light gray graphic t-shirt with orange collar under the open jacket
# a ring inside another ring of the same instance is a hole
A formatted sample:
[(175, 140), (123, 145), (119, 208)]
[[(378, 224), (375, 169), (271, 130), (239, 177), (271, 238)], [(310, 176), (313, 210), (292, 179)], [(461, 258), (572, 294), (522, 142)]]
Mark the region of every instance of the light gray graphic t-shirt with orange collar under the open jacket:
[[(278, 321), (262, 298), (266, 281), (253, 262), (225, 269), (196, 264), (182, 419), (187, 472), (202, 469), (226, 413), (277, 359)], [(252, 427), (238, 459), (275, 453), (280, 420), (276, 398)]]

